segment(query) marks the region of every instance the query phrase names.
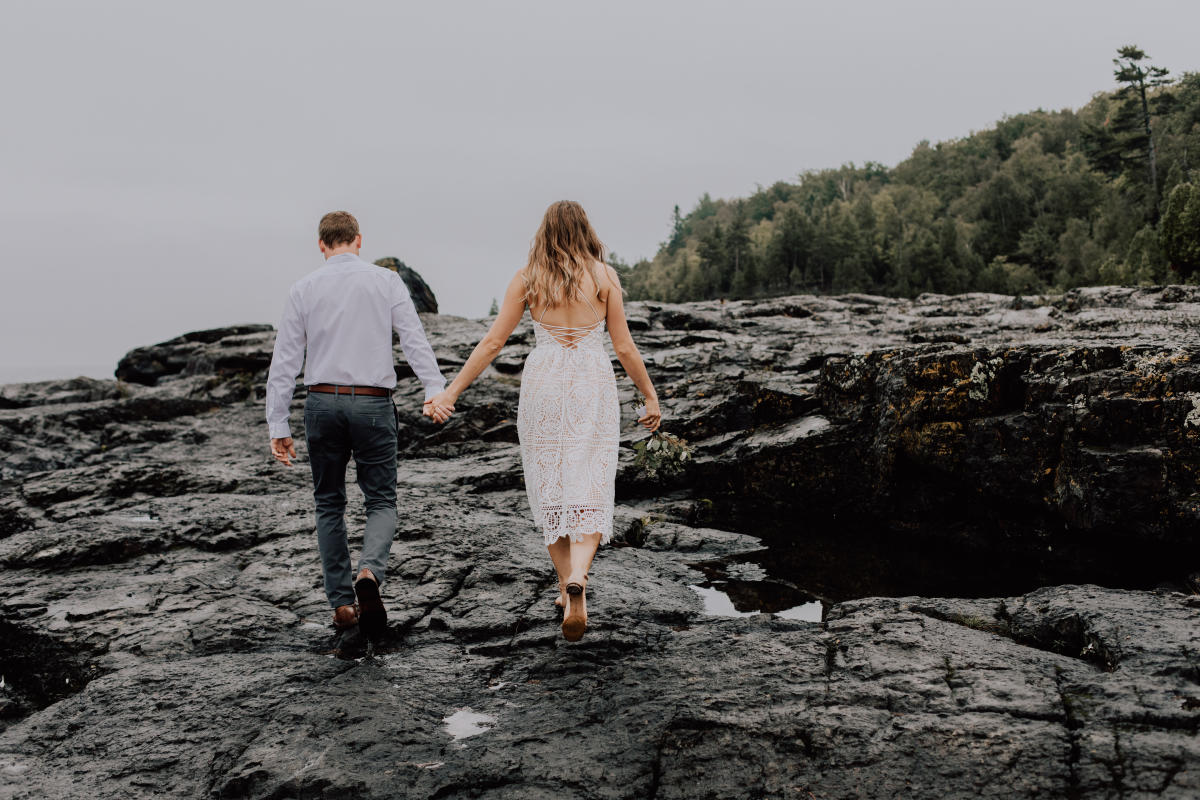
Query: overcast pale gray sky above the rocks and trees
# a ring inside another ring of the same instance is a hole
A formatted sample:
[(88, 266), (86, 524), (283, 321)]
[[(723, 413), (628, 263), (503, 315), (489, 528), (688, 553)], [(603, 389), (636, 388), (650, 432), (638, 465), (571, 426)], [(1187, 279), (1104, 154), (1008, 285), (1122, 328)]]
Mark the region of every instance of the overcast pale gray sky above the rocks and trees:
[(671, 209), (1079, 107), (1195, 0), (56, 2), (0, 32), (0, 380), (276, 323), (324, 211), (484, 315), (546, 205), (625, 260)]

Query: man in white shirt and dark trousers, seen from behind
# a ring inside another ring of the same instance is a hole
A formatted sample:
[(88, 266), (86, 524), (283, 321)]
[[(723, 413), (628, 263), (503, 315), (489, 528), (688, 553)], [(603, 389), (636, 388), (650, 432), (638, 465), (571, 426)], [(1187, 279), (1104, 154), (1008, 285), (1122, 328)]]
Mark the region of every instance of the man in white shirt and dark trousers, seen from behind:
[[(266, 379), (266, 422), (271, 453), (290, 467), (296, 451), (288, 410), (304, 365), (305, 438), (325, 596), (334, 609), (334, 627), (348, 632), (359, 626), (377, 639), (388, 627), (379, 587), (396, 534), (391, 332), (400, 335), (408, 363), (425, 387), (426, 416), (438, 422), (445, 422), (449, 413), (434, 409), (430, 399), (442, 391), (445, 379), (404, 282), (391, 270), (359, 258), (358, 221), (346, 211), (326, 213), (318, 227), (318, 245), (325, 266), (296, 281), (283, 306)], [(367, 517), (353, 581), (346, 541), (346, 465), (352, 455)]]

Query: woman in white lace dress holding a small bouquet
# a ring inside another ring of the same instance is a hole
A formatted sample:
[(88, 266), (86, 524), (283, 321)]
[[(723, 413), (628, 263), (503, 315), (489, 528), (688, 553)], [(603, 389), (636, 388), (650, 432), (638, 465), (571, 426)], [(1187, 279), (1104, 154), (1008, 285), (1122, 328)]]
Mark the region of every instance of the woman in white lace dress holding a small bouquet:
[(596, 548), (612, 539), (620, 404), (601, 338), (605, 323), (625, 373), (646, 397), (638, 422), (649, 431), (661, 420), (659, 398), (629, 335), (617, 272), (604, 263), (604, 246), (583, 209), (563, 200), (546, 209), (529, 261), (512, 276), (491, 330), (445, 391), (425, 405), (427, 416), (444, 420), (454, 410), (526, 308), (536, 344), (521, 377), (521, 461), (534, 522), (558, 572), (554, 604), (564, 609), (563, 636), (575, 642), (587, 630), (588, 569)]

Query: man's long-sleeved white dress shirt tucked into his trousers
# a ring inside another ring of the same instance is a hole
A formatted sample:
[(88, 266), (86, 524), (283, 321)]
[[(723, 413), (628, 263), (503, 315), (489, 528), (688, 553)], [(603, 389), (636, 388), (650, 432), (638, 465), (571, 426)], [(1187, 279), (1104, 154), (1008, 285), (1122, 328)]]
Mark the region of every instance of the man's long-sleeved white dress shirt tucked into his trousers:
[(392, 389), (396, 385), (392, 331), (400, 335), (404, 357), (425, 386), (425, 399), (445, 389), (433, 348), (425, 338), (408, 287), (398, 275), (353, 253), (341, 253), (296, 281), (283, 305), (266, 377), (266, 423), (271, 438), (292, 435), (288, 410), (301, 366), (306, 386)]

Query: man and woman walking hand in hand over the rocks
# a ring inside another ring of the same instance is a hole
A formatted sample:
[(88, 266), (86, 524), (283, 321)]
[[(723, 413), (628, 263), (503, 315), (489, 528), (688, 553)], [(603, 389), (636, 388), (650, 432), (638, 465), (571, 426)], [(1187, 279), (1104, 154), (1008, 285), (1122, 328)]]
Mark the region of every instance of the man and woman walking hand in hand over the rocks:
[[(534, 523), (558, 573), (563, 636), (587, 630), (592, 559), (612, 537), (620, 405), (604, 344), (646, 397), (638, 420), (661, 419), (658, 396), (625, 321), (620, 282), (583, 209), (551, 205), (526, 266), (512, 276), (499, 313), (458, 374), (446, 385), (400, 276), (359, 258), (358, 221), (326, 213), (318, 228), (325, 266), (288, 293), (266, 381), (271, 451), (290, 465), (295, 447), (288, 410), (304, 367), (304, 423), (312, 467), (317, 543), (334, 626), (378, 639), (388, 626), (380, 597), (396, 533), (397, 423), (391, 335), (425, 387), (422, 411), (436, 422), (500, 353), (528, 308), (536, 343), (526, 359), (517, 432)], [(350, 457), (366, 500), (358, 572), (346, 536), (346, 467)]]

